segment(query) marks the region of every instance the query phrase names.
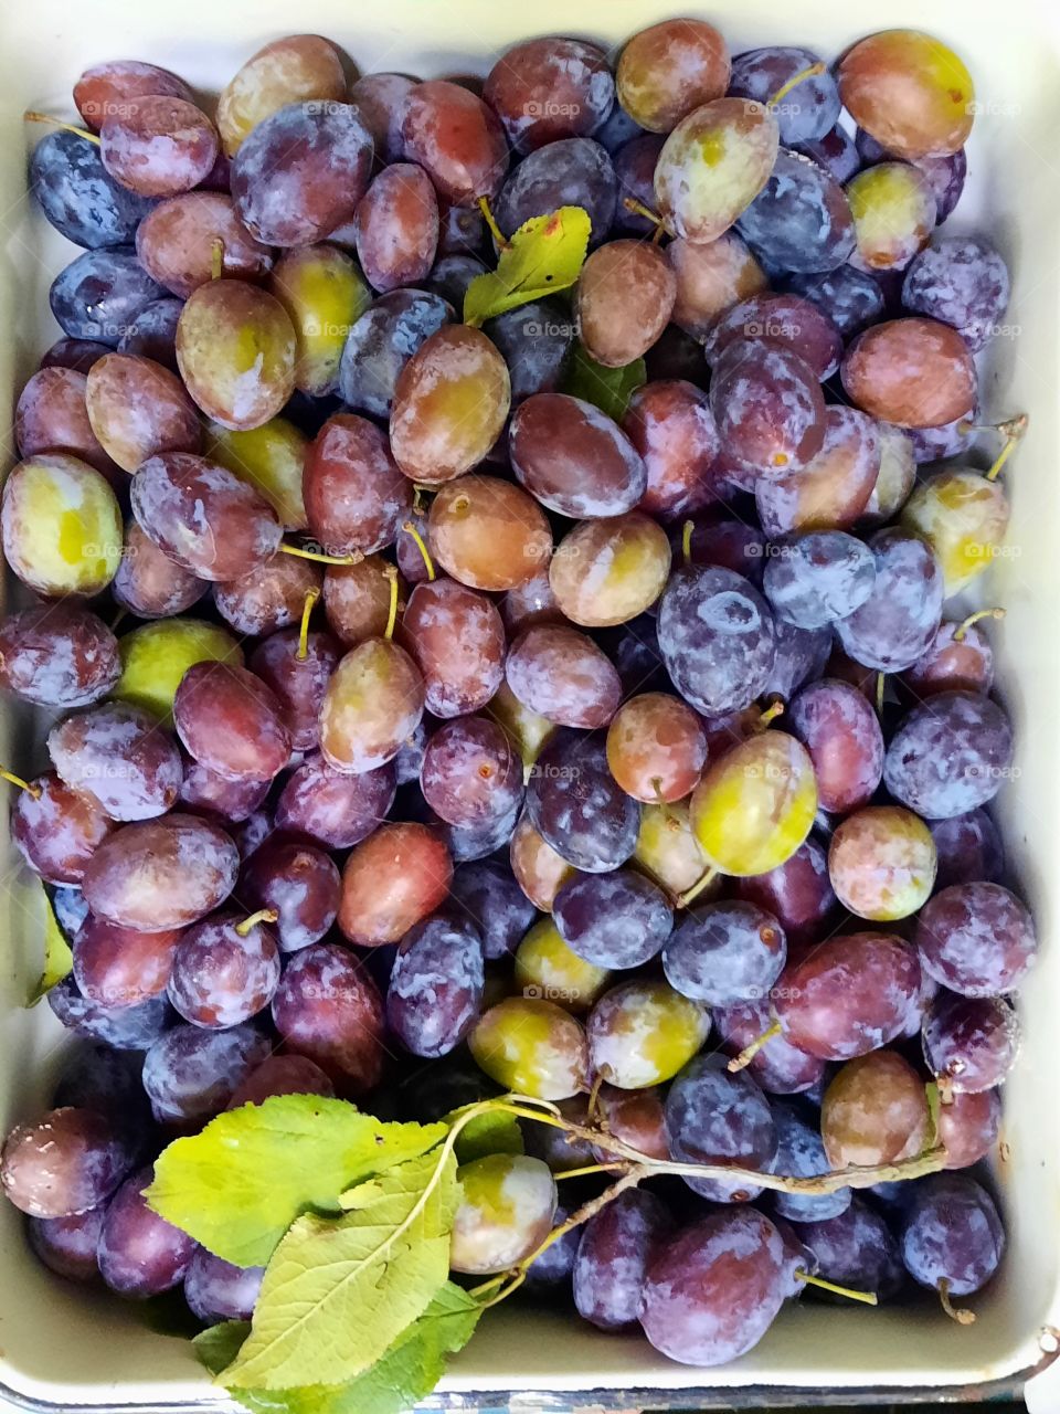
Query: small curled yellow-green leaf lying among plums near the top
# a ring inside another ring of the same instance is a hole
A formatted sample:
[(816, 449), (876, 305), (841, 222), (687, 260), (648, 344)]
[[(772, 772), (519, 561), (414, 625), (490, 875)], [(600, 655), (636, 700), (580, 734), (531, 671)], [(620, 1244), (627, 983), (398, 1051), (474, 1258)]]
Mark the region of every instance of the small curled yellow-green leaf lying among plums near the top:
[(505, 310), (570, 288), (585, 264), (589, 229), (589, 215), (581, 206), (531, 216), (497, 256), (496, 270), (468, 286), (464, 322), (478, 327)]

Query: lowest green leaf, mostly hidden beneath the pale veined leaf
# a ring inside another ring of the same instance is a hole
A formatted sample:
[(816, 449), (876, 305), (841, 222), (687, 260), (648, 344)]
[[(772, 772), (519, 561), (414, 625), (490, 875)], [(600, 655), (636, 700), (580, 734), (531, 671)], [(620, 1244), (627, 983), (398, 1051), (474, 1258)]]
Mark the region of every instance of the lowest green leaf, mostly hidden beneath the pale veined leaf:
[[(482, 1305), (447, 1281), (424, 1314), (397, 1336), (373, 1366), (346, 1384), (310, 1384), (294, 1390), (232, 1391), (254, 1414), (403, 1414), (434, 1390), (445, 1357), (462, 1350), (475, 1333)], [(195, 1340), (211, 1373), (218, 1359), (245, 1339), (246, 1322), (226, 1321)], [(216, 1332), (216, 1333), (215, 1333)]]

